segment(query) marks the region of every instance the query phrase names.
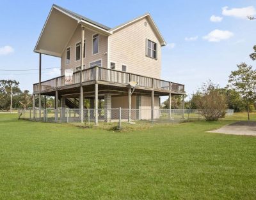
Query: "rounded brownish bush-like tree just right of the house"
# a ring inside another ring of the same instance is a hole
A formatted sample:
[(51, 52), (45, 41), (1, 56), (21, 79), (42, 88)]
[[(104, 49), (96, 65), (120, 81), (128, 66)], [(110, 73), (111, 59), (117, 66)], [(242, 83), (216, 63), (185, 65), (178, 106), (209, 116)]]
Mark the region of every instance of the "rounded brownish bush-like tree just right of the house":
[(207, 121), (216, 121), (225, 117), (226, 96), (219, 90), (218, 85), (214, 85), (211, 81), (204, 83), (197, 90), (193, 96), (193, 101)]

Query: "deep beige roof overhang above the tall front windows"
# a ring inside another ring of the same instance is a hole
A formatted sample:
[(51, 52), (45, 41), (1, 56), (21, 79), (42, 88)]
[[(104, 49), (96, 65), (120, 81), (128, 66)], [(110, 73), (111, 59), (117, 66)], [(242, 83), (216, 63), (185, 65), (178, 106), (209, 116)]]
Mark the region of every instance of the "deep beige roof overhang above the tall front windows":
[(69, 11), (53, 5), (36, 43), (34, 52), (61, 57), (77, 25), (109, 35), (109, 31)]

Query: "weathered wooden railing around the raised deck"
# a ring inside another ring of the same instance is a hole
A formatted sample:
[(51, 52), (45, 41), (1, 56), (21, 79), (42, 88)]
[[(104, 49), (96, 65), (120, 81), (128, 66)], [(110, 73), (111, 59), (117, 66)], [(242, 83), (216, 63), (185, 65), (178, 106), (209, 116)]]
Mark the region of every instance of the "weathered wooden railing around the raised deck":
[[(80, 83), (80, 71), (73, 73), (72, 84)], [(99, 80), (109, 83), (117, 83), (128, 85), (129, 82), (138, 82), (139, 87), (154, 88), (156, 90), (163, 90), (177, 93), (184, 93), (184, 85), (179, 83), (167, 82), (156, 78), (147, 76), (135, 75), (124, 71), (117, 71), (114, 69), (93, 67), (89, 69), (83, 69), (82, 71), (82, 82), (90, 82), (93, 80)], [(68, 84), (68, 85), (72, 85)], [(65, 87), (65, 76), (59, 76), (52, 78), (45, 82), (41, 82), (41, 91), (52, 90)], [(34, 84), (34, 92), (39, 92), (39, 83)]]

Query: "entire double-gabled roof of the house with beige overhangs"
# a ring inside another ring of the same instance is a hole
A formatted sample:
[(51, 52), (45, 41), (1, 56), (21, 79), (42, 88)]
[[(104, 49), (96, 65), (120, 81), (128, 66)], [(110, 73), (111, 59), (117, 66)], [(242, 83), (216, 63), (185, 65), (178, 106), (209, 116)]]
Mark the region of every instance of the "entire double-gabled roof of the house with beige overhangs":
[(128, 25), (131, 25), (138, 20), (141, 20), (142, 18), (148, 19), (148, 22), (150, 22), (152, 29), (154, 29), (161, 45), (166, 45), (163, 36), (159, 32), (159, 29), (157, 28), (154, 20), (149, 13), (134, 18), (129, 22), (118, 25), (117, 27), (111, 29), (106, 25), (102, 25), (98, 22), (91, 20), (90, 18), (84, 17), (82, 15), (74, 13), (73, 11), (53, 4), (42, 29), (42, 32), (36, 43), (34, 52), (61, 57), (61, 54), (65, 50), (65, 46), (67, 45), (67, 41), (69, 41), (69, 39), (72, 37), (72, 34), (76, 30), (78, 24), (84, 25), (86, 29), (91, 29), (100, 32), (101, 34), (104, 34), (106, 36), (109, 36), (115, 33), (115, 31), (127, 27)]

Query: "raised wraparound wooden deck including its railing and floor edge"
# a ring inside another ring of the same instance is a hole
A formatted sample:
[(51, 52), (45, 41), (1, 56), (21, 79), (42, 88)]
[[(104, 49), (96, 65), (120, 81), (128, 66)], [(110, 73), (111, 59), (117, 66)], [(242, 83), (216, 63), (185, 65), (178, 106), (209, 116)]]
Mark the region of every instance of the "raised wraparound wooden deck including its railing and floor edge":
[[(82, 73), (82, 74), (81, 74)], [(93, 95), (94, 86), (99, 84), (99, 94), (106, 91), (112, 92), (127, 92), (129, 89), (129, 82), (136, 81), (138, 86), (135, 93), (148, 94), (154, 90), (155, 94), (159, 96), (167, 96), (172, 94), (184, 94), (184, 85), (179, 83), (168, 82), (151, 78), (147, 76), (135, 75), (123, 71), (116, 71), (113, 69), (93, 67), (89, 69), (83, 69), (73, 74), (73, 83), (65, 85), (65, 76), (59, 76), (41, 82), (41, 94), (54, 96), (56, 90), (63, 95), (79, 94), (79, 87), (82, 85), (86, 88), (85, 92), (90, 92)], [(80, 82), (80, 78), (82, 81)], [(39, 94), (39, 83), (33, 85), (33, 94)]]

